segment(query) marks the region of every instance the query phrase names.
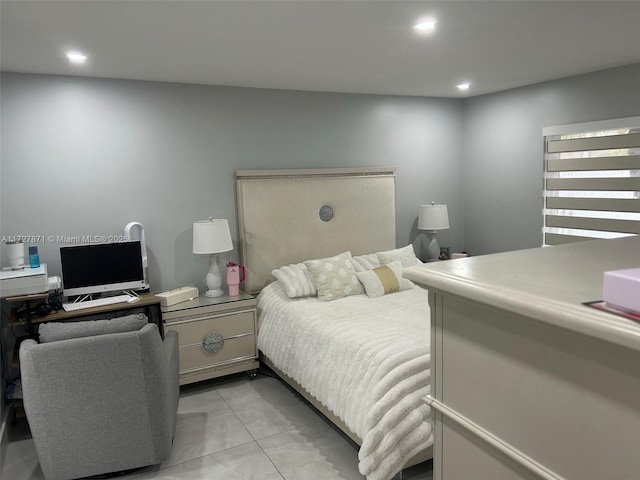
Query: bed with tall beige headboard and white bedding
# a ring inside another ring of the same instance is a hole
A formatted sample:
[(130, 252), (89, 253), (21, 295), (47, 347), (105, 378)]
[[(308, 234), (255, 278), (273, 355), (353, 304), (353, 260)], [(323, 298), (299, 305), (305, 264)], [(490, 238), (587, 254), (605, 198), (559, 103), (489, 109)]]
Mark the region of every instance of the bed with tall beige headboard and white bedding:
[[(239, 170), (236, 187), (261, 361), (360, 445), (367, 480), (431, 458), (429, 306), (401, 278), (418, 260), (395, 248), (395, 170)], [(328, 259), (366, 288), (323, 301)], [(383, 264), (400, 288), (370, 298)]]

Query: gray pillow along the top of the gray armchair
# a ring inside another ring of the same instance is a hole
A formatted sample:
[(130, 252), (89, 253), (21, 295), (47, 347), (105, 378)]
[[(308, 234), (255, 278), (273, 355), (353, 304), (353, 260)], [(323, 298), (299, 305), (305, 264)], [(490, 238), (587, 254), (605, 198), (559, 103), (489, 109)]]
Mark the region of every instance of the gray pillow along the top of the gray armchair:
[(87, 320), (84, 322), (49, 322), (38, 329), (40, 343), (57, 342), (71, 338), (92, 337), (106, 333), (123, 333), (140, 330), (148, 323), (143, 313), (112, 318), (111, 320)]

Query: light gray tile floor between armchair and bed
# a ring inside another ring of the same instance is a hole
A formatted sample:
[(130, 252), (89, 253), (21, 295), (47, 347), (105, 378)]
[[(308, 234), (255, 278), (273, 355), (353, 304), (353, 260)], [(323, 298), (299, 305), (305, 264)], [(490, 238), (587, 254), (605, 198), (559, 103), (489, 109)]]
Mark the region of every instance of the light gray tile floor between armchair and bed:
[[(2, 479), (43, 480), (26, 422), (17, 427)], [(364, 479), (357, 446), (286, 385), (262, 374), (183, 387), (171, 457), (118, 478)], [(405, 470), (402, 478), (432, 480), (431, 462)]]

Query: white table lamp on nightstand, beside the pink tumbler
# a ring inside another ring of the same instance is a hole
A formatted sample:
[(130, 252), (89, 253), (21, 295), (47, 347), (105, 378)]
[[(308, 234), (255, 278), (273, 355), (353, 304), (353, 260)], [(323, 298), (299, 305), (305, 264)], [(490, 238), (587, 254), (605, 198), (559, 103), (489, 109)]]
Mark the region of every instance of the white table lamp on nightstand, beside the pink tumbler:
[(222, 275), (218, 268), (218, 253), (233, 250), (229, 223), (224, 219), (211, 218), (193, 222), (193, 253), (211, 255), (207, 272), (207, 297), (221, 297)]

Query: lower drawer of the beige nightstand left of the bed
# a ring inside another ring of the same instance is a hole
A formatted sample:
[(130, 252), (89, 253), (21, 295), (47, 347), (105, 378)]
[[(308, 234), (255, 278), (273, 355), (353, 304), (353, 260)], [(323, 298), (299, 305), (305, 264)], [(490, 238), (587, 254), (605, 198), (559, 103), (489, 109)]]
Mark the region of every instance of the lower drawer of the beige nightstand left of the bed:
[(230, 362), (235, 359), (256, 356), (256, 340), (254, 335), (223, 340), (224, 344), (217, 352), (207, 351), (200, 342), (199, 345), (180, 347), (180, 370), (190, 370), (213, 364)]

